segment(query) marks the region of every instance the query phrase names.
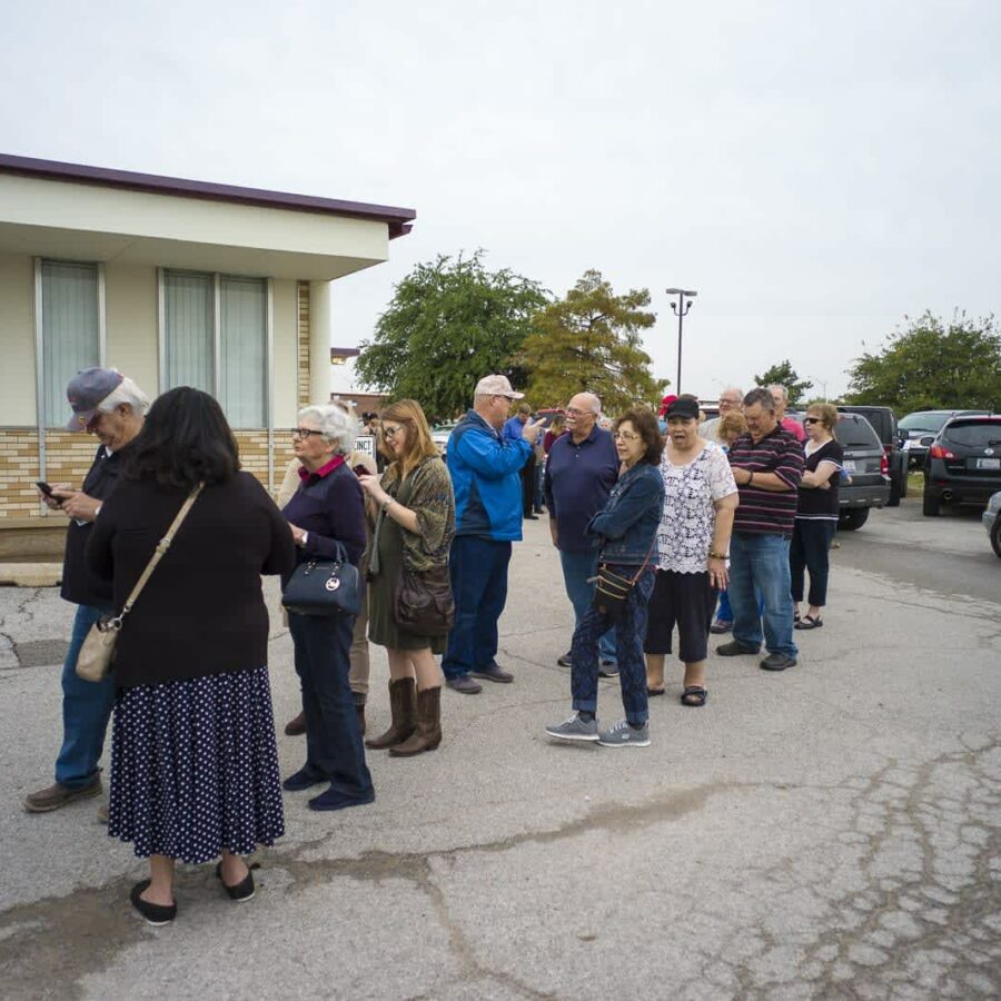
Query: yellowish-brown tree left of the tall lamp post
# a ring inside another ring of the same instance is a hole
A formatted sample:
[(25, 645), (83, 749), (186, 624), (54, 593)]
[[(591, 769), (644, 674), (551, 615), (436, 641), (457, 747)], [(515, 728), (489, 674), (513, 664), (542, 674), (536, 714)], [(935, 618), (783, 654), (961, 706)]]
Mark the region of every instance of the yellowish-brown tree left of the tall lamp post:
[(522, 359), (535, 406), (562, 406), (576, 393), (596, 393), (609, 414), (660, 402), (666, 380), (655, 379), (642, 331), (656, 317), (645, 311), (647, 289), (616, 296), (601, 271), (585, 271), (566, 294), (533, 320)]

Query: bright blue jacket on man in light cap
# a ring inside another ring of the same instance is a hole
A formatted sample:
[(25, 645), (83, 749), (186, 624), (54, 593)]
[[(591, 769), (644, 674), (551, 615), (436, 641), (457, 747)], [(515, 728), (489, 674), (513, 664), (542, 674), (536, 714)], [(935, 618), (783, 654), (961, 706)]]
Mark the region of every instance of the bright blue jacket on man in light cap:
[(475, 410), (455, 426), (445, 462), (455, 490), (455, 534), (494, 542), (522, 537), (522, 466), (532, 446), (503, 438)]

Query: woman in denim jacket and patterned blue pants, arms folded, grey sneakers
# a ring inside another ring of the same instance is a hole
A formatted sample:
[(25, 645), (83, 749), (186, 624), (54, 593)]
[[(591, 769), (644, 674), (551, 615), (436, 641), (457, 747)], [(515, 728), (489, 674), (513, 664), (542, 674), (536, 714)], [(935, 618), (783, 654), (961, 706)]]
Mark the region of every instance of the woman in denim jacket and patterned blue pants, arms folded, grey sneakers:
[[(625, 602), (603, 601), (603, 589), (581, 620), (571, 647), (571, 694), (574, 714), (564, 723), (546, 727), (563, 741), (597, 741), (605, 747), (647, 747), (646, 668), (643, 636), (646, 603), (653, 589), (657, 525), (664, 504), (664, 477), (658, 464), (664, 442), (654, 415), (645, 408), (627, 410), (615, 425), (615, 448), (623, 473), (608, 503), (587, 526), (601, 546), (598, 574), (628, 587)], [(608, 730), (598, 730), (598, 637), (615, 626), (618, 681), (625, 718)]]

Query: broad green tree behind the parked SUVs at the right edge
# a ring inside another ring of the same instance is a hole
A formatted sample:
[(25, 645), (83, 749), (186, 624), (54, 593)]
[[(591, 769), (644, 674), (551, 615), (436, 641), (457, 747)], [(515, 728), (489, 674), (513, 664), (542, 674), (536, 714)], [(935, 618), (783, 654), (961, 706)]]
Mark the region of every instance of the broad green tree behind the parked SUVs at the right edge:
[(972, 320), (957, 311), (947, 326), (928, 310), (904, 321), (878, 351), (849, 368), (849, 403), (893, 407), (901, 416), (1001, 406), (1001, 336), (993, 316)]

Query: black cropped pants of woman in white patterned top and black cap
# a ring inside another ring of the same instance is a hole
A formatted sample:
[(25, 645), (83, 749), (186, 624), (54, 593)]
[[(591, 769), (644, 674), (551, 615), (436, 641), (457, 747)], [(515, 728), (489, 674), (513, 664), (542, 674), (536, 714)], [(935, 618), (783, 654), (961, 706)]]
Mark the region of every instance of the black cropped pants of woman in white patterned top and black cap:
[(677, 624), (677, 656), (695, 664), (708, 655), (708, 627), (716, 608), (716, 588), (708, 573), (678, 574), (657, 571), (646, 617), (643, 652), (671, 653), (671, 634)]

